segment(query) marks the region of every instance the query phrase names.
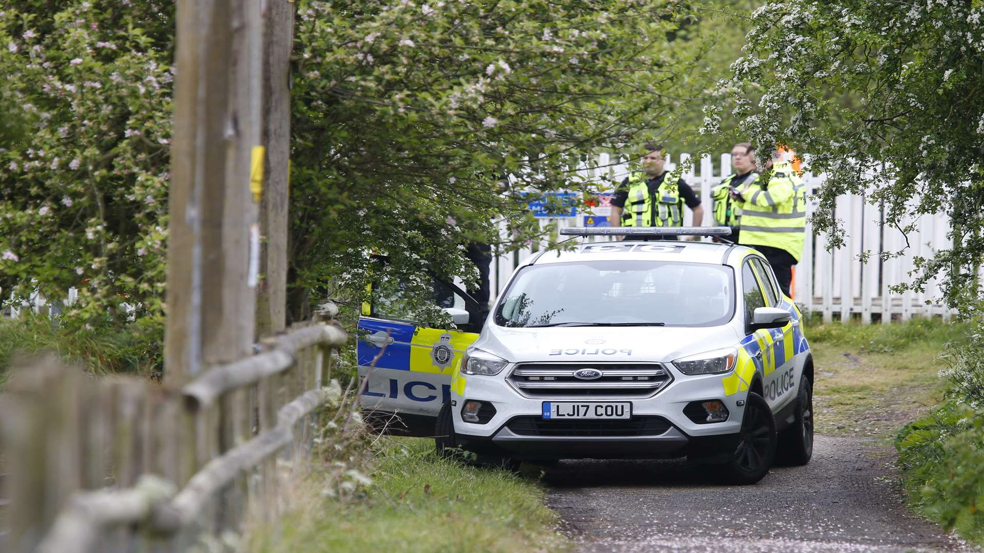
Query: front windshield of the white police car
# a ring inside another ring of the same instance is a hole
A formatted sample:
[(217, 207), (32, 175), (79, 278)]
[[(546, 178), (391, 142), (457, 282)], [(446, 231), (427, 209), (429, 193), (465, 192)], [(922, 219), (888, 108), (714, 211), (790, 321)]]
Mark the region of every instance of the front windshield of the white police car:
[(523, 268), (495, 311), (501, 327), (709, 327), (731, 320), (730, 267), (585, 261)]

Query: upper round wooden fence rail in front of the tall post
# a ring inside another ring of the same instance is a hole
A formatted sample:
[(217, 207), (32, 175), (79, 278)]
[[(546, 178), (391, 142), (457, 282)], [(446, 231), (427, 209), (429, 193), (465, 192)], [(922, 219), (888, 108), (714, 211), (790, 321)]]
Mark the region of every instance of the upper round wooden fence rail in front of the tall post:
[(270, 351), (209, 369), (181, 390), (186, 403), (195, 409), (215, 403), (222, 394), (255, 384), (294, 363), (298, 351), (316, 344), (338, 347), (348, 335), (336, 325), (313, 325), (287, 333), (274, 340)]

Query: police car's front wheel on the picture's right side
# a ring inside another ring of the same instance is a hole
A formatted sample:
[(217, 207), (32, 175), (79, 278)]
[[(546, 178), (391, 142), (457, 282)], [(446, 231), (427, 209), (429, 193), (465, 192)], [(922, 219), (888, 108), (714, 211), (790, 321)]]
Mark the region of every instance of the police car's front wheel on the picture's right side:
[(738, 445), (731, 459), (718, 467), (715, 478), (726, 484), (754, 484), (761, 480), (775, 459), (775, 419), (769, 403), (749, 392), (745, 401)]

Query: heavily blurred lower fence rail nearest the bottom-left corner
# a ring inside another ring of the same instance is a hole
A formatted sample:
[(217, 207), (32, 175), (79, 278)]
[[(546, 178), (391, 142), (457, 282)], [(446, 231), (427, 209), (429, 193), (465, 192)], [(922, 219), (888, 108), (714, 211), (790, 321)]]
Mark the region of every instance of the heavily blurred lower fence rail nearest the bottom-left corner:
[(38, 553), (86, 553), (107, 526), (148, 519), (154, 507), (174, 497), (171, 482), (145, 474), (125, 490), (76, 492), (61, 511), (51, 531), (37, 546)]

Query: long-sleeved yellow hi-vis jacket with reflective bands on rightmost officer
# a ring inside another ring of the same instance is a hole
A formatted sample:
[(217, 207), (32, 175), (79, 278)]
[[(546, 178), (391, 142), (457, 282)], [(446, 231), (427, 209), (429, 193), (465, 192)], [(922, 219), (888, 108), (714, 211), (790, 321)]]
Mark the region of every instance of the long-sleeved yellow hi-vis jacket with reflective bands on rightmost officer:
[(779, 163), (769, 184), (758, 179), (740, 190), (745, 199), (739, 242), (789, 252), (798, 262), (806, 230), (806, 185), (789, 163)]

